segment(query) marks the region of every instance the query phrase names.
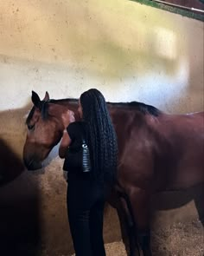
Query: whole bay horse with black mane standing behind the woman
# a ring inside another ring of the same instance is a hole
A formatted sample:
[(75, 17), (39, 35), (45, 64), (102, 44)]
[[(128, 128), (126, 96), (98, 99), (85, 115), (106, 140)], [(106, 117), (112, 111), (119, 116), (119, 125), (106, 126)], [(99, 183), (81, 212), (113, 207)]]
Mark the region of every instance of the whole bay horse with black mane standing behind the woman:
[[(48, 93), (41, 101), (35, 92), (32, 102), (23, 160), (35, 170), (61, 140), (61, 114), (71, 109), (78, 118), (78, 102), (49, 100)], [(115, 188), (128, 220), (130, 254), (137, 255), (137, 238), (143, 255), (151, 255), (151, 195), (204, 181), (204, 113), (167, 115), (140, 102), (107, 104), (118, 135)]]

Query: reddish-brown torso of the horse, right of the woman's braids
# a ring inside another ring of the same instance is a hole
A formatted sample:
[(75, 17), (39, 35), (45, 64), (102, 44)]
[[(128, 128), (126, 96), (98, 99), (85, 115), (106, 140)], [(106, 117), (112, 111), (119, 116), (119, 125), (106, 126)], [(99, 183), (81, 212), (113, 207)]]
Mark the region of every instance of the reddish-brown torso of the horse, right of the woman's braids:
[(159, 191), (204, 181), (204, 113), (154, 116), (124, 109), (113, 123), (119, 182)]

